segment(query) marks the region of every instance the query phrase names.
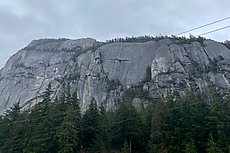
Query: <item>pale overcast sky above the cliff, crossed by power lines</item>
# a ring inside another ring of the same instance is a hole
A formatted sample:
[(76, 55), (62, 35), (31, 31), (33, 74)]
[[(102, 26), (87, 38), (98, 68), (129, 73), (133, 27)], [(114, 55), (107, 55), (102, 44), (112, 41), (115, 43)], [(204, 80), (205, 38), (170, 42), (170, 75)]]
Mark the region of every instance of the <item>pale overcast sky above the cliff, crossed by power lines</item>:
[[(229, 17), (229, 6), (229, 0), (1, 0), (0, 69), (34, 39), (175, 35)], [(190, 34), (229, 25), (230, 19)], [(225, 41), (229, 33), (205, 37)]]

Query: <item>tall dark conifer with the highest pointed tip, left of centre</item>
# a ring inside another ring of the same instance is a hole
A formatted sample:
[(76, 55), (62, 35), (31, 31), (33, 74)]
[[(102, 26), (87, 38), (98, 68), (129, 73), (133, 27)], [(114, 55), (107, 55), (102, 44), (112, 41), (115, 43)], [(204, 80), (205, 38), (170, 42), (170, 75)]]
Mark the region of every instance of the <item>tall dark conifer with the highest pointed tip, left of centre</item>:
[(27, 131), (24, 138), (24, 152), (54, 152), (56, 145), (50, 116), (51, 83), (43, 92), (43, 100), (38, 103), (28, 116)]

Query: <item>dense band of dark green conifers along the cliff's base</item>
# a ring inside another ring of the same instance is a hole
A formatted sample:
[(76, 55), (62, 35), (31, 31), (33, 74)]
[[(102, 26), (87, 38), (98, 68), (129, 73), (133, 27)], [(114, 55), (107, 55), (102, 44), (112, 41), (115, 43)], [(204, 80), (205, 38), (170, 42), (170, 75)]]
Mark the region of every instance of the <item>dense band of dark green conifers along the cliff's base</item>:
[(168, 95), (154, 107), (137, 111), (121, 102), (105, 111), (94, 100), (80, 111), (69, 88), (51, 100), (51, 86), (31, 110), (15, 104), (0, 119), (1, 153), (228, 153), (230, 98), (217, 90), (207, 103), (202, 95)]

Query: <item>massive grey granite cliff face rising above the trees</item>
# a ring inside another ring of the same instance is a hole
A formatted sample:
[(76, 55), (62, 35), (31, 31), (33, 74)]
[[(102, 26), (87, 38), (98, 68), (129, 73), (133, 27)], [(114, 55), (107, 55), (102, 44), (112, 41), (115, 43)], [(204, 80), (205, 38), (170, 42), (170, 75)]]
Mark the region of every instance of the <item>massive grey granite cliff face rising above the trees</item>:
[[(82, 110), (92, 99), (115, 109), (123, 95), (135, 91), (151, 98), (165, 96), (169, 90), (183, 95), (188, 88), (208, 94), (210, 84), (226, 91), (229, 72), (230, 50), (212, 40), (180, 45), (170, 39), (144, 43), (35, 40), (0, 71), (0, 113), (16, 102), (25, 109), (40, 102), (50, 82), (53, 96), (60, 94), (64, 82), (70, 83)], [(135, 105), (143, 101), (142, 96), (133, 96)]]

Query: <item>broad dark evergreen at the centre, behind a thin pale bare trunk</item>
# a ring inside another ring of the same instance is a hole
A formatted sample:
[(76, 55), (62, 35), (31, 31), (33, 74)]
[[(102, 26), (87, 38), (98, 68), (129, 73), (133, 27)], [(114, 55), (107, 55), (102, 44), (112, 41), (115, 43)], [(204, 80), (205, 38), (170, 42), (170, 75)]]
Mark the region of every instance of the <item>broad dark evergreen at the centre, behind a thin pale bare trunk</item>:
[(116, 112), (116, 120), (113, 134), (113, 144), (119, 149), (127, 140), (132, 145), (132, 150), (144, 152), (142, 120), (138, 111), (131, 103), (121, 102)]

